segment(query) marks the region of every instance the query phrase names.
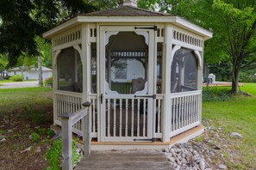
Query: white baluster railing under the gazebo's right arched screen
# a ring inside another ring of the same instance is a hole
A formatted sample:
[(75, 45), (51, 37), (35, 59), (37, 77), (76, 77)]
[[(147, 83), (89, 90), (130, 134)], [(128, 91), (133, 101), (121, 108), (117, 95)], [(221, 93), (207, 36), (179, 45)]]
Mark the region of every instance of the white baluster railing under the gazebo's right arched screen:
[(200, 124), (201, 97), (200, 90), (172, 94), (170, 137)]

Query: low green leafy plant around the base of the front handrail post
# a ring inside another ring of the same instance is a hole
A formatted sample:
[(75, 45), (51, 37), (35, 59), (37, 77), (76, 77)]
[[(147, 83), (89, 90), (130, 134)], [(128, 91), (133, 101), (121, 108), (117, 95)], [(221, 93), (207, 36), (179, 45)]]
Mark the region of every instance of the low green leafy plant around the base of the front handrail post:
[[(78, 164), (78, 161), (81, 160), (82, 155), (77, 152), (77, 143), (78, 138), (75, 139), (72, 143), (72, 165), (75, 166)], [(47, 161), (49, 163), (49, 170), (61, 169), (61, 155), (62, 155), (62, 141), (61, 138), (53, 142), (52, 147), (47, 152)]]

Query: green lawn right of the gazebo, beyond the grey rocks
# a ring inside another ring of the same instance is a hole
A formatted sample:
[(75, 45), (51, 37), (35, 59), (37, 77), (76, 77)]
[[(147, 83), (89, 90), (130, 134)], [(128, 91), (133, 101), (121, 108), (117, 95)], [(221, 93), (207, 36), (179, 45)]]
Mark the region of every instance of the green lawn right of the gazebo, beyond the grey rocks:
[[(210, 88), (218, 94), (213, 100), (203, 101), (203, 120), (211, 121), (215, 127), (224, 127), (224, 140), (228, 148), (223, 150), (226, 155), (226, 164), (230, 169), (256, 168), (256, 83), (246, 83), (240, 90), (253, 94), (253, 96), (232, 96), (226, 90), (230, 88)], [(204, 95), (207, 93), (204, 91)], [(231, 132), (238, 132), (241, 139), (232, 139)], [(219, 141), (216, 141), (217, 143)], [(231, 150), (234, 155), (227, 154)], [(231, 161), (232, 160), (232, 161)]]

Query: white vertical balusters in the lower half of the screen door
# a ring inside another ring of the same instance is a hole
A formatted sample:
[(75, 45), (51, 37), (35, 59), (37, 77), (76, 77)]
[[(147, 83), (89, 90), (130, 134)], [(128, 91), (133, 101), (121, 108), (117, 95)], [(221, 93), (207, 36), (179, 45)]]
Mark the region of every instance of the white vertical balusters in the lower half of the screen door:
[(106, 96), (105, 137), (147, 137), (148, 98), (134, 99), (134, 94)]

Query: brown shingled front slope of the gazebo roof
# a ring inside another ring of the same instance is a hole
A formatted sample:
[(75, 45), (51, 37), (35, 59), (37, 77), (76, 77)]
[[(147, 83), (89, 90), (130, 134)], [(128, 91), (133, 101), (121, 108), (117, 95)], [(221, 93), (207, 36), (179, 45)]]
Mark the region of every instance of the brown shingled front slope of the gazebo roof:
[(87, 14), (84, 16), (172, 16), (165, 13), (153, 12), (146, 9), (139, 9), (133, 6), (119, 5), (116, 9), (107, 9)]

